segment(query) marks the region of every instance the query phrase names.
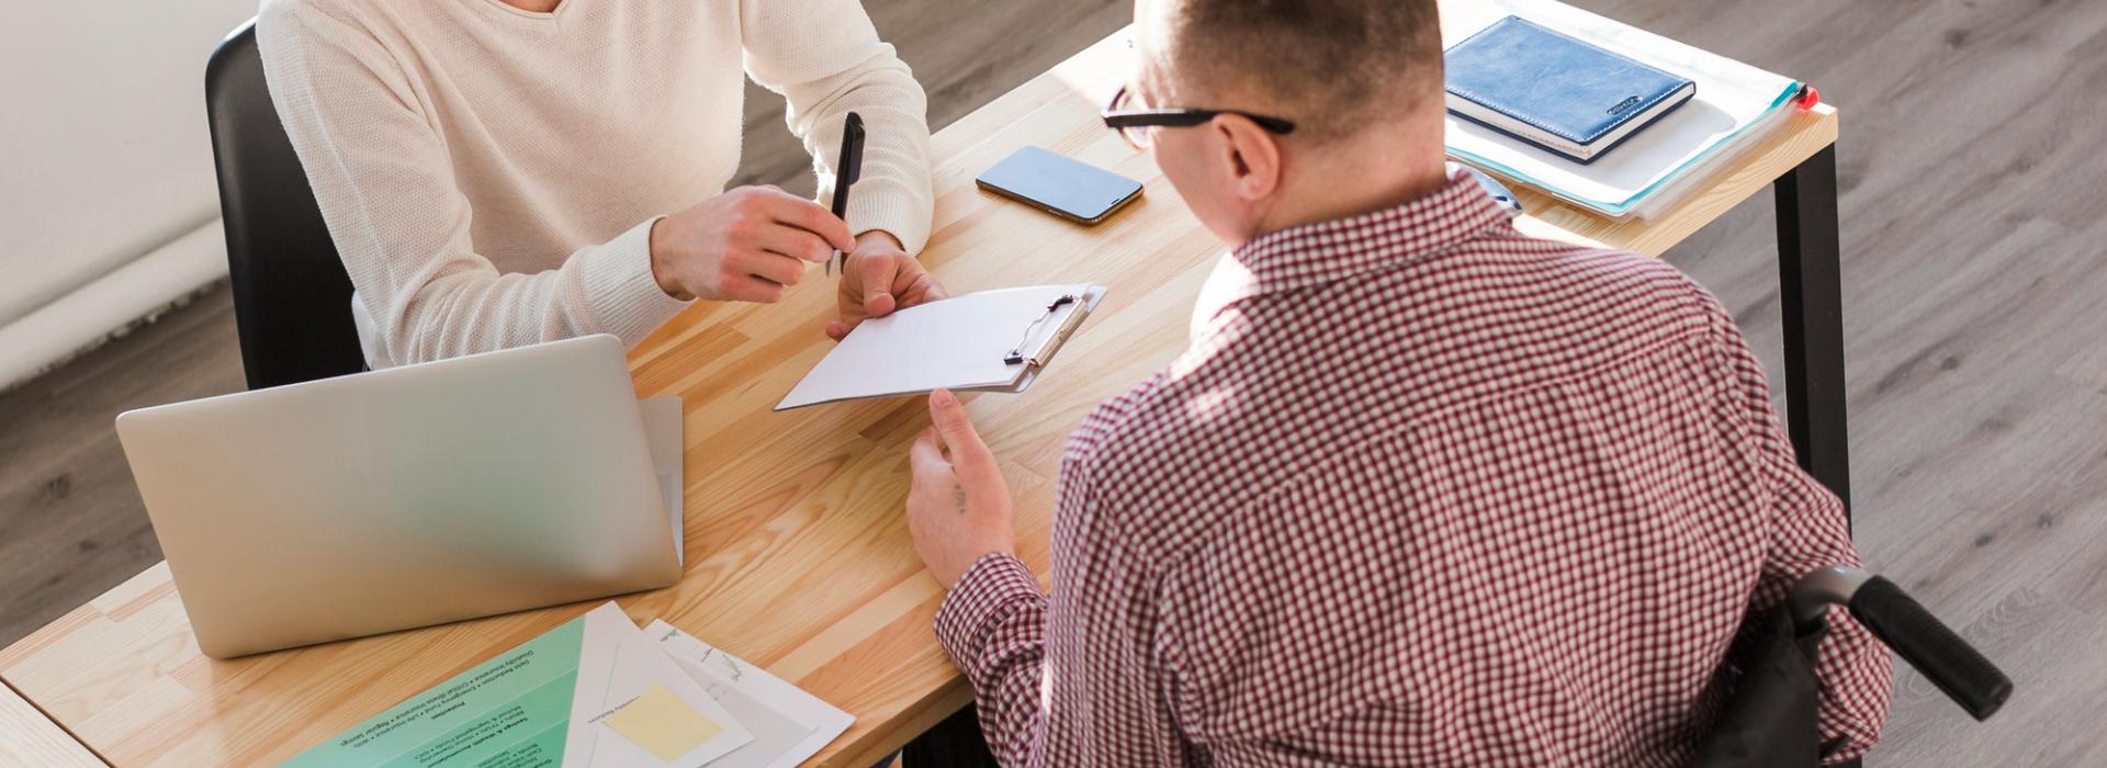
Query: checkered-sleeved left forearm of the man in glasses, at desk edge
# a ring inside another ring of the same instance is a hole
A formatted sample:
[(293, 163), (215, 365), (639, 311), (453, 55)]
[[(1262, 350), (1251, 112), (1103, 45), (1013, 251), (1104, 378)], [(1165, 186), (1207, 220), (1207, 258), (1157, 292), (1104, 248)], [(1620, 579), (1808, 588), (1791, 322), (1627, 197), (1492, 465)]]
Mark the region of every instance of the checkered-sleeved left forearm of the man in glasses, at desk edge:
[(1045, 619), (1047, 595), (1007, 553), (980, 558), (936, 617), (938, 642), (973, 682), (980, 728), (1005, 766), (1030, 764), (1041, 751)]

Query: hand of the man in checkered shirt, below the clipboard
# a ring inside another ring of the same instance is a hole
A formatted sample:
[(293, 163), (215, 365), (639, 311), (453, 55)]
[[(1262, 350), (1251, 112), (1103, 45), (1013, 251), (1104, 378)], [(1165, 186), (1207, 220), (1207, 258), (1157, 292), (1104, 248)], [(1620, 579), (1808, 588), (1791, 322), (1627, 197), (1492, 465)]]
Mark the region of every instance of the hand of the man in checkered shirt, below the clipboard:
[(908, 452), (914, 465), (908, 534), (929, 574), (950, 589), (980, 555), (1016, 551), (1016, 516), (1009, 482), (959, 398), (944, 389), (929, 393), (929, 419), (936, 425)]

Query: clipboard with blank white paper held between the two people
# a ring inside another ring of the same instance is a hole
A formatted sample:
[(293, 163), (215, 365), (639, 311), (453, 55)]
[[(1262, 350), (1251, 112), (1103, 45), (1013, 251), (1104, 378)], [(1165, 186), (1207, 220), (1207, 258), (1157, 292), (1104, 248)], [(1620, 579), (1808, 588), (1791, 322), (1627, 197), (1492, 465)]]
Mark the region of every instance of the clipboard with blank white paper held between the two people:
[(933, 389), (1030, 389), (1104, 301), (1104, 286), (982, 290), (864, 320), (775, 410)]

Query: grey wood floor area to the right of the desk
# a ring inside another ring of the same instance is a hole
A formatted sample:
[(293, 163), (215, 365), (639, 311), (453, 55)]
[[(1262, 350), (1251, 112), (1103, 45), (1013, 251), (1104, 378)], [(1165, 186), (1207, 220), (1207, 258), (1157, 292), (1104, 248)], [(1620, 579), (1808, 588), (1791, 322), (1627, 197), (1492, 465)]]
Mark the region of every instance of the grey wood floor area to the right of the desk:
[[(1842, 109), (1858, 549), (2019, 686), (1974, 724), (1901, 673), (1869, 764), (2107, 764), (2107, 4), (1580, 4)], [(1669, 259), (1736, 311), (1776, 381), (1770, 227), (1766, 196)]]

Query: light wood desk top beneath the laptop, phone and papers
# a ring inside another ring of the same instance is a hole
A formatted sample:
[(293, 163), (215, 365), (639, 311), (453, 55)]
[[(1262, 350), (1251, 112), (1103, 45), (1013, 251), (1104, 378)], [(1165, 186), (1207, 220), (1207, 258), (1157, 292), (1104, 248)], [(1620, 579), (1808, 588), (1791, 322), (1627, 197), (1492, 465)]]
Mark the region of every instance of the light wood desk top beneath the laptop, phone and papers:
[[(1222, 252), (1155, 164), (1098, 122), (1127, 65), (1112, 36), (933, 141), (938, 221), (923, 261), (952, 292), (1110, 286), (1026, 396), (967, 400), (1003, 459), (1020, 553), (1041, 579), (1064, 436), (1182, 349), (1193, 299)], [(1799, 114), (1656, 221), (1603, 221), (1523, 191), (1532, 215), (1521, 227), (1660, 255), (1835, 135), (1833, 109)], [(1094, 229), (978, 191), (973, 175), (1020, 145), (1144, 179), (1148, 191)], [(864, 768), (971, 690), (929, 629), (942, 591), (900, 516), (923, 400), (769, 410), (828, 349), (820, 328), (832, 301), (813, 271), (780, 305), (695, 307), (632, 351), (638, 396), (687, 402), (689, 568), (676, 587), (619, 602), (632, 619), (662, 617), (851, 711), (855, 726), (822, 762)], [(0, 678), (116, 764), (278, 762), (588, 608), (211, 661), (162, 564), (0, 650)]]

